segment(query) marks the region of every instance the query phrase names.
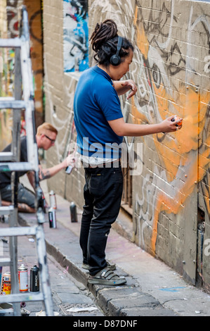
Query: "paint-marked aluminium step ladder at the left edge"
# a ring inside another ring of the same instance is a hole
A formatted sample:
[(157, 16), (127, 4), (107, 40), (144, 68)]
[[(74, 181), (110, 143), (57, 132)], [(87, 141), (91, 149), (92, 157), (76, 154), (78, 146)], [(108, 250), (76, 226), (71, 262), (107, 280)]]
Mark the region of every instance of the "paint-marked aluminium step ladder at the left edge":
[[(8, 227), (0, 227), (0, 237), (9, 237), (10, 258), (1, 258), (0, 266), (9, 266), (11, 270), (11, 294), (0, 295), (0, 306), (12, 304), (12, 309), (0, 309), (6, 316), (21, 316), (20, 302), (43, 301), (46, 316), (53, 316), (53, 299), (51, 294), (48, 266), (46, 261), (46, 244), (43, 223), (44, 211), (41, 208), (42, 191), (39, 186), (39, 160), (34, 120), (34, 88), (32, 81), (32, 63), (29, 56), (29, 27), (25, 6), (21, 9), (20, 37), (0, 39), (0, 47), (15, 49), (14, 92), (13, 97), (0, 97), (0, 108), (13, 109), (13, 132), (11, 152), (0, 153), (0, 171), (12, 173), (13, 201), (11, 206), (1, 206), (0, 215), (8, 215)], [(25, 110), (27, 160), (20, 162), (20, 123), (21, 111)], [(18, 226), (18, 180), (17, 171), (33, 171), (37, 201), (37, 225), (33, 227)], [(1, 201), (1, 196), (0, 196)], [(18, 282), (18, 236), (34, 235), (37, 240), (37, 256), (41, 282), (41, 292), (20, 293)]]

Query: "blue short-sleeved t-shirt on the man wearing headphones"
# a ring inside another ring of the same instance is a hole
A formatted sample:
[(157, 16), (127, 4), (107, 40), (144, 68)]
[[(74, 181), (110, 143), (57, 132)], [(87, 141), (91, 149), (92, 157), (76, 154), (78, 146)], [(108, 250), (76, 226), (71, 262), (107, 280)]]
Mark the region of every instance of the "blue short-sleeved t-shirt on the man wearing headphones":
[(122, 118), (119, 97), (112, 80), (95, 66), (82, 73), (74, 95), (74, 123), (78, 151), (84, 156), (120, 158), (123, 137), (108, 120)]

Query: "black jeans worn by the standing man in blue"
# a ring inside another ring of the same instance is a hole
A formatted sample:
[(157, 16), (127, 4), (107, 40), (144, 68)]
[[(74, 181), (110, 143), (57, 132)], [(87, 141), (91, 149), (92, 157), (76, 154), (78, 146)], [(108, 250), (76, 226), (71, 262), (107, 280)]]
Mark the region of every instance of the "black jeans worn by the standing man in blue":
[(83, 262), (88, 264), (90, 275), (107, 266), (105, 247), (112, 223), (119, 214), (122, 199), (123, 175), (117, 168), (84, 168), (83, 214), (81, 218), (80, 246)]

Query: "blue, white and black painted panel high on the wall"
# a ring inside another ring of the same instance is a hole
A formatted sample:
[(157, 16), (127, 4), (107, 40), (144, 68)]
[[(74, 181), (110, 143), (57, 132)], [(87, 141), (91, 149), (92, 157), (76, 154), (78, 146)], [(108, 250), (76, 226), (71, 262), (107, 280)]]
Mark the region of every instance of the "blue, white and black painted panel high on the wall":
[(88, 1), (63, 0), (64, 71), (88, 68)]

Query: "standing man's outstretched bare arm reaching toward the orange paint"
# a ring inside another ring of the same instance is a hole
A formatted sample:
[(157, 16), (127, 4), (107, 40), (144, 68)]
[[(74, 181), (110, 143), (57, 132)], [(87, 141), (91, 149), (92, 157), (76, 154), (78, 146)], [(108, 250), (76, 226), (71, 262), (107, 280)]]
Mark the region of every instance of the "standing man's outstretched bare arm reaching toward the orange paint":
[(172, 122), (171, 119), (173, 117), (174, 115), (157, 124), (130, 124), (125, 123), (124, 118), (109, 120), (108, 123), (118, 136), (140, 137), (145, 135), (153, 135), (154, 133), (174, 132), (176, 130), (180, 130), (181, 126), (176, 127), (176, 124), (180, 123), (182, 118)]

